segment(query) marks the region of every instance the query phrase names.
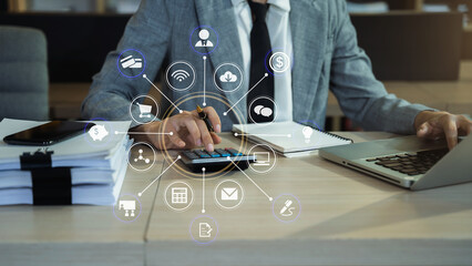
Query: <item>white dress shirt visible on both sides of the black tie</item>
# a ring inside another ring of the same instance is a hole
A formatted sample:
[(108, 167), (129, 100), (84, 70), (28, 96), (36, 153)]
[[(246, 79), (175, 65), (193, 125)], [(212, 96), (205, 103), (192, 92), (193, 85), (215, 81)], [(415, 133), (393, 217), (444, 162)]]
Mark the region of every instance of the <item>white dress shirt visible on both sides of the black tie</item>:
[[(250, 89), (250, 30), (253, 29), (253, 16), (247, 0), (232, 1), (243, 51), (245, 86)], [(274, 52), (281, 51), (293, 58), (291, 31), (288, 17), (290, 2), (289, 0), (268, 0), (267, 3), (270, 4), (266, 16), (270, 45), (275, 50)], [(274, 101), (277, 105), (275, 121), (293, 121), (291, 71), (286, 71), (283, 75), (275, 75), (274, 78)]]

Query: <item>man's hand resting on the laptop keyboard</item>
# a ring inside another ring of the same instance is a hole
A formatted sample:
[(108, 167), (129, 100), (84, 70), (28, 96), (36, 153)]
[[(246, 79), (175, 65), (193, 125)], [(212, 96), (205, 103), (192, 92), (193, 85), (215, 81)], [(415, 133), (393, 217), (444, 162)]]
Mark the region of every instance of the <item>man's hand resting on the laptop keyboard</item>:
[(458, 135), (472, 133), (472, 121), (448, 112), (423, 111), (414, 119), (414, 127), (419, 137), (432, 140), (445, 137), (451, 150), (458, 144)]

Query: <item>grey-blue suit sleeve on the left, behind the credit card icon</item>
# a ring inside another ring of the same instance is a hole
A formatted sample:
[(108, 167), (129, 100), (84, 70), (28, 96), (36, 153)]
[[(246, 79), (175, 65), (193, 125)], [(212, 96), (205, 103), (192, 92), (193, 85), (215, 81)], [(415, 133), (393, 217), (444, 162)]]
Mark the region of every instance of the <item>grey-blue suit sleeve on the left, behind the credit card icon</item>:
[[(172, 20), (164, 0), (143, 0), (130, 19), (115, 51), (106, 55), (100, 73), (93, 76), (89, 95), (82, 103), (82, 117), (130, 121), (130, 104), (137, 95), (147, 95), (150, 83), (142, 75), (126, 78), (120, 73), (116, 60), (121, 51), (135, 49), (145, 57), (145, 73), (154, 81), (167, 52)], [(137, 105), (132, 108), (138, 113)], [(131, 127), (136, 126), (132, 122)]]

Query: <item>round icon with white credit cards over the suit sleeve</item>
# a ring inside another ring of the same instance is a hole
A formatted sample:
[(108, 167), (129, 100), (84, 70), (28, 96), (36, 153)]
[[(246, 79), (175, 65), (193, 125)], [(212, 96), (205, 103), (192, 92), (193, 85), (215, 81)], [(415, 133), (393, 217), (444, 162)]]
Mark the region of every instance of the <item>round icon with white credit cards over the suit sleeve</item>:
[(136, 78), (146, 69), (146, 58), (136, 49), (126, 49), (117, 57), (116, 68), (125, 78)]

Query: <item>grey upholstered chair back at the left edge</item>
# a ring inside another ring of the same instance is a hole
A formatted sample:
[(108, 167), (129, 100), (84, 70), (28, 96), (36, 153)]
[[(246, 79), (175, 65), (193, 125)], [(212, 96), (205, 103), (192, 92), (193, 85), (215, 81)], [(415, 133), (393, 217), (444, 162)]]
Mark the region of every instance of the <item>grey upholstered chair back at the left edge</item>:
[(48, 120), (48, 82), (44, 34), (0, 27), (0, 120)]

